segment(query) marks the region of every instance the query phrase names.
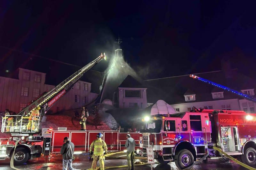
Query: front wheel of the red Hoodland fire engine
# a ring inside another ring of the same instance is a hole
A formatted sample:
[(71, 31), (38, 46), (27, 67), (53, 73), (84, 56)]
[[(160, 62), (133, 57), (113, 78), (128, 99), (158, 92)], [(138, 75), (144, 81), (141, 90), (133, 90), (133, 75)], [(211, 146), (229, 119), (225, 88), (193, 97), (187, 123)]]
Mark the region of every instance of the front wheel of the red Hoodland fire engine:
[(179, 169), (185, 169), (186, 167), (191, 166), (194, 162), (193, 154), (187, 149), (181, 150), (177, 156), (175, 155), (175, 157), (175, 165)]

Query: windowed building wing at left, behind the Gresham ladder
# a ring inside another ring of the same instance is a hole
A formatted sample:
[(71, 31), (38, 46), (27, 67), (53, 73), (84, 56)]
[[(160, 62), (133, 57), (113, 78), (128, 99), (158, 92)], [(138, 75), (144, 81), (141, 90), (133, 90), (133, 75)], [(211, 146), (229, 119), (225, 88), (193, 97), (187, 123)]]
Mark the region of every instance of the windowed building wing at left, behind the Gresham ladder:
[[(19, 112), (22, 107), (52, 89), (45, 84), (45, 73), (19, 68), (18, 79), (0, 77), (0, 112), (9, 109)], [(92, 102), (98, 94), (91, 93), (91, 83), (78, 81), (48, 112), (76, 109)]]

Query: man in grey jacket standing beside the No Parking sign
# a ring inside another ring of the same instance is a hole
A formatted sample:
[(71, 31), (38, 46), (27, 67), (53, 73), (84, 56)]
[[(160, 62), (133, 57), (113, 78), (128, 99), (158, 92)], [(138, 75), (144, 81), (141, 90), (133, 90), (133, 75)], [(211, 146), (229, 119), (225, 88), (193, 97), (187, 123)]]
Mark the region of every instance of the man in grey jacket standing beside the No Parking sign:
[(134, 150), (135, 150), (135, 140), (131, 137), (130, 134), (126, 135), (126, 142), (125, 142), (125, 148), (127, 149), (127, 164), (128, 169), (133, 170), (134, 169)]

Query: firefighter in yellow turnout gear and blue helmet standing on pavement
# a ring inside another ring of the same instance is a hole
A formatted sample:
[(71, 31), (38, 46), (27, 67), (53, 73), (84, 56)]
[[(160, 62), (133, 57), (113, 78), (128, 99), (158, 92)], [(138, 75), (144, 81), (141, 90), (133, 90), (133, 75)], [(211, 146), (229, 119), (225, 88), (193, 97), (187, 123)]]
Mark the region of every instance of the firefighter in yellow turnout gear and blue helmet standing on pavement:
[[(90, 145), (90, 154), (93, 158), (91, 170), (96, 169), (98, 161), (100, 162), (100, 169), (104, 170), (105, 154), (107, 154), (108, 148), (107, 144), (101, 139), (102, 136), (102, 133), (98, 133), (97, 139)], [(92, 149), (94, 149), (94, 151), (92, 151)]]

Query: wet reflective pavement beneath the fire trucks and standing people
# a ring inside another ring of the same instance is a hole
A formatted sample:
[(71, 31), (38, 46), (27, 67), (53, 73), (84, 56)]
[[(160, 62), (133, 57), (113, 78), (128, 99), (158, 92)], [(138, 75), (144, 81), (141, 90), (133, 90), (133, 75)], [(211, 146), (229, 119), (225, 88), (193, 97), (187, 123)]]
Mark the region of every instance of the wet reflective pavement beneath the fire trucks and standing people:
[[(40, 169), (40, 170), (58, 170), (62, 169), (62, 156), (61, 155), (56, 155), (53, 156), (53, 158), (50, 160), (49, 163), (44, 163), (44, 161), (47, 162), (47, 159), (44, 160), (44, 157), (41, 158), (31, 158), (27, 164), (21, 165), (21, 166), (15, 166), (16, 168), (19, 169), (24, 169), (24, 170), (34, 170), (34, 169)], [(135, 161), (141, 161), (141, 162), (146, 162), (147, 159), (135, 159)], [(127, 165), (126, 159), (113, 159), (113, 158), (106, 158), (105, 162), (105, 167), (107, 166), (121, 166), (121, 165)], [(92, 160), (89, 159), (88, 154), (79, 154), (75, 155), (75, 161), (73, 162), (73, 168), (74, 169), (87, 169), (90, 168), (92, 165)], [(99, 163), (98, 165), (99, 166)], [(10, 168), (9, 165), (9, 159), (6, 160), (0, 160), (0, 170), (9, 170), (12, 169)], [(118, 168), (111, 168), (111, 169), (120, 169), (120, 170), (125, 170), (127, 167), (118, 167)], [(135, 166), (135, 169), (141, 169), (141, 170), (150, 170), (151, 167), (150, 165), (142, 165), (142, 166)], [(174, 162), (171, 162), (166, 165), (161, 165), (161, 164), (154, 164), (153, 165), (154, 170), (178, 170), (178, 168), (175, 166)], [(230, 161), (230, 162), (222, 162), (218, 159), (209, 159), (208, 164), (198, 164), (193, 166), (194, 170), (246, 170), (246, 168), (237, 165), (236, 163)]]

